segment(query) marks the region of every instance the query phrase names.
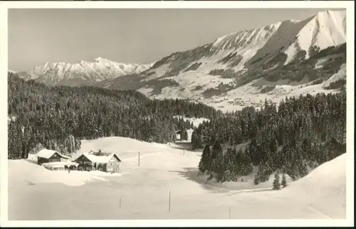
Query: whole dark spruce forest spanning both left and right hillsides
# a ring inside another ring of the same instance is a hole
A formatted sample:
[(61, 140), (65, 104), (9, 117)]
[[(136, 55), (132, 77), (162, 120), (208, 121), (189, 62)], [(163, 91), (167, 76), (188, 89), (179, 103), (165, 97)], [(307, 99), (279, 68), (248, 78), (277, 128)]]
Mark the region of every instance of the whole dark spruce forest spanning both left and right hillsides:
[[(14, 117), (9, 159), (27, 158), (38, 144), (70, 154), (80, 149), (80, 139), (99, 137), (174, 142), (177, 133), (187, 139), (186, 130), (194, 128), (192, 149), (204, 149), (199, 174), (237, 181), (258, 166), (258, 184), (275, 171), (298, 179), (346, 151), (345, 89), (223, 113), (188, 100), (150, 100), (133, 90), (49, 87), (14, 73), (8, 80), (8, 115)], [(193, 127), (175, 115), (210, 121)]]

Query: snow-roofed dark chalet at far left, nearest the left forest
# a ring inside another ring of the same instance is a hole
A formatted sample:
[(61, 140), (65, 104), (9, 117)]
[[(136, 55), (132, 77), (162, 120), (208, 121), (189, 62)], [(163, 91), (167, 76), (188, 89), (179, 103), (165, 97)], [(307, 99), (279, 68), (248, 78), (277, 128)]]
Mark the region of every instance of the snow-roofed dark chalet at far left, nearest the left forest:
[(36, 154), (37, 164), (42, 165), (46, 169), (51, 170), (65, 170), (77, 169), (78, 164), (69, 160), (68, 156), (58, 153), (58, 151), (51, 149), (41, 149)]

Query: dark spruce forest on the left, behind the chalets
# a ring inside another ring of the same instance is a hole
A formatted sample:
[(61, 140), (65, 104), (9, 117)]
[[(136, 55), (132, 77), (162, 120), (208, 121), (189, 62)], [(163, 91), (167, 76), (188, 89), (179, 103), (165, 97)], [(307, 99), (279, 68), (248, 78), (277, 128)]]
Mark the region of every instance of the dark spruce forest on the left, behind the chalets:
[(221, 112), (187, 100), (150, 100), (140, 92), (98, 87), (48, 87), (8, 75), (9, 159), (26, 158), (36, 144), (53, 148), (78, 139), (130, 137), (146, 142), (173, 142), (175, 132), (192, 123), (174, 115), (218, 117)]

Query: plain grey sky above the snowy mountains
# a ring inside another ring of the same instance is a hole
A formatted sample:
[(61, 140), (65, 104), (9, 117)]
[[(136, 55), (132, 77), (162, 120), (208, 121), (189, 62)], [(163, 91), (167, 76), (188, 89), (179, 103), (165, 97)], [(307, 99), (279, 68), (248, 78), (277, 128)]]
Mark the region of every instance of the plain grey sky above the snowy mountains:
[(108, 58), (152, 63), (219, 36), (325, 9), (9, 9), (9, 69)]

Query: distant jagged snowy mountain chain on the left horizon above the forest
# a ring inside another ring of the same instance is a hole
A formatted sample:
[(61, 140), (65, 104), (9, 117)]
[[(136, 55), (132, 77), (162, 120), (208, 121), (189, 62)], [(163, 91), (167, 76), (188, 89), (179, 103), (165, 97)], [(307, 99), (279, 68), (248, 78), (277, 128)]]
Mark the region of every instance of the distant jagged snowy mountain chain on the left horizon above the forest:
[(152, 65), (116, 63), (100, 57), (79, 63), (45, 63), (33, 68), (28, 73), (31, 77), (27, 76), (26, 80), (32, 79), (47, 85), (91, 85), (101, 80), (141, 73)]

